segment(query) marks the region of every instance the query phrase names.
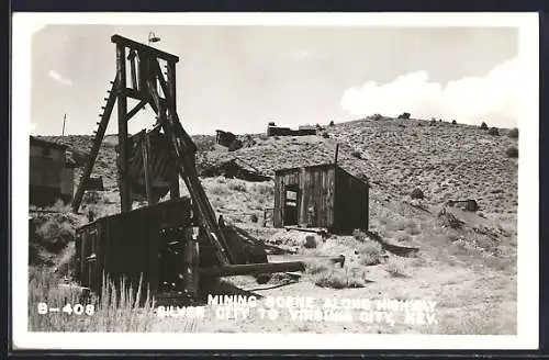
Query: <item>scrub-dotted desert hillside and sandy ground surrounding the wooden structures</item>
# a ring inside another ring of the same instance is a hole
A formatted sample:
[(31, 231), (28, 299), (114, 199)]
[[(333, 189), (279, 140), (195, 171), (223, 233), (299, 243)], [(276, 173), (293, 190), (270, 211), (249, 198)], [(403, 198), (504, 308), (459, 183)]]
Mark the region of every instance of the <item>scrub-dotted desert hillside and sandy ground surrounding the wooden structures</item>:
[[(264, 296), (306, 293), (316, 297), (433, 299), (437, 302), (439, 320), (426, 327), (337, 322), (300, 325), (289, 319), (267, 322), (254, 317), (243, 323), (220, 324), (215, 319), (189, 323), (147, 317), (147, 322), (137, 322), (141, 325), (122, 330), (516, 333), (516, 130), (376, 116), (326, 125), (318, 135), (238, 136), (245, 146), (234, 151), (216, 145), (213, 135), (193, 136), (199, 149), (199, 172), (236, 157), (273, 176), (276, 169), (332, 162), (339, 144), (338, 164), (370, 183), (370, 228), (352, 236), (324, 238), (272, 228), (271, 224), (264, 226), (264, 210), (273, 206), (272, 181), (201, 177), (215, 212), (249, 238), (277, 250), (269, 256), (344, 255), (348, 259), (344, 268), (312, 261), (299, 281), (280, 274), (271, 279), (270, 288), (258, 289), (249, 277), (227, 278), (227, 282)], [(91, 136), (46, 138), (69, 145), (80, 160), (85, 160), (92, 142)], [(120, 210), (115, 144), (116, 137), (109, 136), (102, 145), (93, 175), (103, 177), (107, 189), (85, 199), (85, 212), (93, 210), (102, 216)], [(477, 200), (480, 210), (447, 207), (445, 211), (447, 200), (466, 199)], [(70, 214), (67, 207), (57, 210), (60, 215), (34, 214), (36, 230), (30, 239), (34, 259), (30, 263), (54, 267), (56, 273), (70, 278), (74, 228), (87, 220)], [(418, 251), (396, 254), (391, 246)], [(30, 286), (42, 289), (41, 284), (47, 282), (45, 278), (34, 277)], [(45, 294), (35, 295), (38, 299)], [(37, 319), (34, 328), (80, 326), (44, 322)]]

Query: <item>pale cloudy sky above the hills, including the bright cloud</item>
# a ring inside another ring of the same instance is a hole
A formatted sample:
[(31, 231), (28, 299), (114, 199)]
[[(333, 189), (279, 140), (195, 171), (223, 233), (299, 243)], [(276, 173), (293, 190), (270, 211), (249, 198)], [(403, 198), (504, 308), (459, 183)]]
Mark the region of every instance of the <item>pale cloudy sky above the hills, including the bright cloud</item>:
[[(64, 114), (66, 133), (91, 134), (115, 74), (111, 35), (146, 43), (150, 31), (161, 37), (156, 47), (180, 57), (177, 105), (191, 134), (404, 111), (516, 125), (512, 27), (47, 25), (31, 47), (33, 134), (60, 134)], [(153, 122), (142, 111), (130, 132)]]

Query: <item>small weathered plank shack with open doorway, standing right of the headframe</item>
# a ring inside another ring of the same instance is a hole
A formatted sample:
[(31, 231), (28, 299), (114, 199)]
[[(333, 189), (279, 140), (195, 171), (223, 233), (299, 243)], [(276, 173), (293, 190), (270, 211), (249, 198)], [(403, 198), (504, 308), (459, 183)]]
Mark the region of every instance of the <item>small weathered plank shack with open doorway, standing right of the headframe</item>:
[(277, 170), (274, 227), (368, 229), (369, 185), (334, 164)]

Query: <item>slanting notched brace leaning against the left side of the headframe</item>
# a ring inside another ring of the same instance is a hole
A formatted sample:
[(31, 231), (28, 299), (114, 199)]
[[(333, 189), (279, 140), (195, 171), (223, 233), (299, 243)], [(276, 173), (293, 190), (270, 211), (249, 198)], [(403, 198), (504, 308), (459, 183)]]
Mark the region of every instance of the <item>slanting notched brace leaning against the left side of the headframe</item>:
[(93, 144), (91, 145), (88, 162), (86, 164), (86, 168), (83, 169), (83, 173), (80, 178), (80, 183), (78, 184), (75, 198), (72, 199), (72, 211), (75, 213), (78, 212), (80, 203), (82, 202), (88, 179), (90, 178), (91, 171), (93, 170), (93, 165), (96, 164), (96, 159), (98, 157), (101, 143), (103, 142), (103, 137), (107, 132), (107, 127), (109, 125), (109, 120), (111, 119), (112, 110), (114, 109), (114, 103), (116, 102), (116, 94), (114, 92), (114, 89), (117, 87), (117, 81), (119, 81), (117, 79), (119, 77), (116, 75), (114, 77), (114, 81), (112, 82), (111, 90), (109, 91), (110, 94), (109, 98), (107, 98), (107, 104), (104, 106), (104, 111), (101, 114), (101, 121), (99, 122), (99, 127), (96, 134), (96, 138), (93, 139)]

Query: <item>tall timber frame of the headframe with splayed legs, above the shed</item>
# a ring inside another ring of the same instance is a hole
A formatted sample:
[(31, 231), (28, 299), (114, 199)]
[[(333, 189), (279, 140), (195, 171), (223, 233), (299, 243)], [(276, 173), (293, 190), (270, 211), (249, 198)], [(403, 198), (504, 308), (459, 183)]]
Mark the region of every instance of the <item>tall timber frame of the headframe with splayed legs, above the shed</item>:
[[(116, 76), (114, 81), (111, 81), (112, 87), (108, 91), (109, 97), (104, 98), (107, 103), (102, 106), (101, 121), (98, 122), (99, 126), (90, 156), (72, 201), (72, 210), (77, 212), (80, 207), (87, 182), (91, 176), (115, 103), (117, 103), (119, 122), (117, 166), (121, 211), (128, 212), (132, 210), (127, 158), (127, 122), (148, 104), (155, 111), (157, 125), (164, 131), (176, 157), (177, 176), (173, 177), (171, 182), (170, 196), (179, 198), (179, 177), (181, 177), (191, 195), (193, 207), (199, 214), (200, 223), (213, 245), (220, 266), (233, 263), (233, 256), (225, 235), (217, 223), (213, 207), (197, 175), (197, 146), (183, 130), (176, 111), (176, 63), (179, 61), (179, 58), (120, 35), (113, 35), (111, 41), (116, 44)], [(130, 49), (127, 57), (126, 48)], [(159, 60), (167, 63), (166, 78), (160, 69)], [(127, 61), (131, 67), (130, 88), (126, 80)], [(158, 89), (158, 85), (160, 89)], [(159, 90), (161, 90), (161, 95)], [(131, 111), (127, 111), (127, 98), (139, 101)]]

